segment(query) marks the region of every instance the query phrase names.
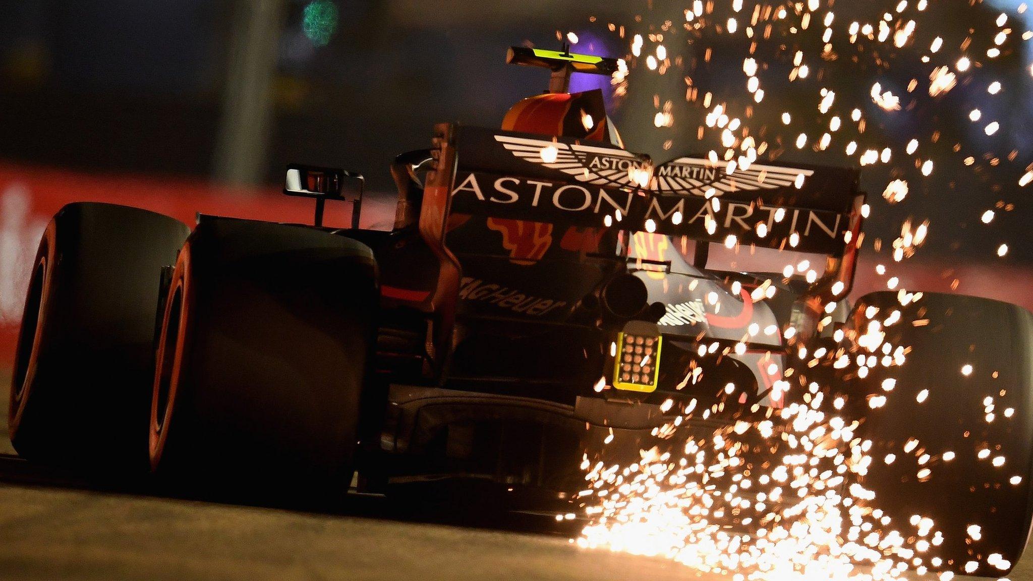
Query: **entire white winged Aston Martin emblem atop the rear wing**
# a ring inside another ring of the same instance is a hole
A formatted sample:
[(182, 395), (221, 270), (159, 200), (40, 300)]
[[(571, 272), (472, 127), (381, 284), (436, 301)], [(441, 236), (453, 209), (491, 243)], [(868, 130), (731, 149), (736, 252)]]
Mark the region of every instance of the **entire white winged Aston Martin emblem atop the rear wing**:
[[(495, 140), (518, 158), (558, 170), (578, 182), (613, 187), (640, 187), (639, 184), (648, 183), (649, 187), (641, 189), (656, 193), (708, 196), (776, 189), (800, 186), (814, 174), (813, 170), (759, 163), (727, 174), (726, 164), (694, 157), (679, 157), (654, 170), (648, 157), (621, 149), (509, 135), (495, 135)], [(651, 175), (643, 179), (643, 173)]]

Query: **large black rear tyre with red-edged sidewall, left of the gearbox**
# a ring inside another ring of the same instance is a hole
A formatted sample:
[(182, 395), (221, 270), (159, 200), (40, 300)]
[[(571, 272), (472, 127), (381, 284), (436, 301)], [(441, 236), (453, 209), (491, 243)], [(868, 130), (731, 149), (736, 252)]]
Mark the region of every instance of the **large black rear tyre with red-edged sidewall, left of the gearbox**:
[(259, 501), (345, 492), (379, 301), (372, 250), (211, 219), (167, 297), (149, 440), (159, 479)]

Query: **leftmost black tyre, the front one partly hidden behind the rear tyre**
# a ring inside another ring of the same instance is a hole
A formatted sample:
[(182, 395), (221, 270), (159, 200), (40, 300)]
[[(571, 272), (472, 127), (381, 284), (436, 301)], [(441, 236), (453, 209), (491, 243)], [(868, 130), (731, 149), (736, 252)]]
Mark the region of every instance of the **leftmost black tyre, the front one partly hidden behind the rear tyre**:
[(190, 233), (136, 208), (62, 208), (39, 243), (18, 338), (8, 428), (38, 461), (146, 470), (161, 268)]

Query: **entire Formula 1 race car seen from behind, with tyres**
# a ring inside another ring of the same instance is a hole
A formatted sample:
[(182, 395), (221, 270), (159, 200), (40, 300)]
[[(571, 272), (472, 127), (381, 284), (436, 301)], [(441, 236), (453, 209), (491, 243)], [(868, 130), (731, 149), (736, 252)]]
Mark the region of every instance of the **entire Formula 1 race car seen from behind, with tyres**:
[[(851, 311), (857, 170), (655, 164), (624, 148), (601, 92), (567, 92), (572, 72), (622, 62), (527, 48), (507, 61), (551, 69), (550, 91), (501, 130), (441, 124), (430, 149), (399, 155), (390, 231), (357, 227), (362, 176), (298, 164), (284, 193), (315, 200), (313, 225), (200, 215), (191, 231), (135, 208), (63, 208), (20, 334), (19, 454), (273, 496), (339, 494), (357, 470), (368, 491), (477, 480), (568, 500), (585, 451), (607, 435), (637, 454), (690, 401), (713, 412), (687, 433), (770, 417), (825, 373), (829, 396), (864, 405), (858, 434), (876, 446), (1008, 442), (1019, 484), (959, 452), (961, 476), (866, 486), (902, 510), (933, 499), (941, 521), (981, 522), (1018, 560), (1033, 315), (937, 294), (902, 305), (897, 293)], [(327, 202), (353, 205), (352, 227), (322, 225)], [(935, 386), (922, 408), (935, 421), (869, 410), (879, 366), (833, 365), (894, 356), (837, 342), (872, 309), (922, 322), (884, 334), (910, 349), (897, 393)], [(963, 361), (983, 372), (961, 376)], [(1012, 409), (1007, 422), (983, 421), (988, 395)]]

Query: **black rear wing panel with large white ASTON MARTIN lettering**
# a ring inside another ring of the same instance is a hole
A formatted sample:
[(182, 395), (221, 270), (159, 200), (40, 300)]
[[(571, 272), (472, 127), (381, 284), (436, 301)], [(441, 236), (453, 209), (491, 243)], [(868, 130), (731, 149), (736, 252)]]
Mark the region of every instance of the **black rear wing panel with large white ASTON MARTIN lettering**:
[(725, 243), (852, 254), (860, 232), (854, 169), (700, 157), (654, 166), (593, 142), (457, 127), (450, 212), (612, 226)]

